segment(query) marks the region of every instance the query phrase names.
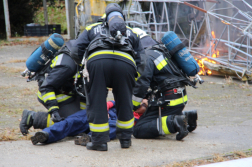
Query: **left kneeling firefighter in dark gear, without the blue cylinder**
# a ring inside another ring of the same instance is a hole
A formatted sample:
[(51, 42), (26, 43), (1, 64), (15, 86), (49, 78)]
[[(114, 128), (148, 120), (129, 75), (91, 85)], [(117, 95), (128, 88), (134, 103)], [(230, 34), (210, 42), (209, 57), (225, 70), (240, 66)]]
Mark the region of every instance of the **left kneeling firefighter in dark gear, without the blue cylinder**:
[(32, 126), (34, 129), (44, 129), (79, 110), (86, 109), (85, 98), (76, 93), (73, 85), (77, 67), (70, 57), (69, 49), (72, 42), (67, 42), (51, 61), (48, 75), (43, 75), (38, 80), (38, 101), (48, 112), (24, 110), (20, 122), (23, 135), (27, 135), (28, 129)]

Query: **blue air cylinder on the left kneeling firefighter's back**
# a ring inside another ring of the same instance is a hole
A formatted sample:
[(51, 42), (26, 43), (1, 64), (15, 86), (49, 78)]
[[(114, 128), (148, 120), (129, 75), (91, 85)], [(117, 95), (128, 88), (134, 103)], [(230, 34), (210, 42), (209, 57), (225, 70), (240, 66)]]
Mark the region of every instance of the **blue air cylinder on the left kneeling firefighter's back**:
[(26, 60), (26, 67), (31, 72), (40, 71), (45, 63), (54, 58), (54, 54), (64, 45), (64, 39), (60, 34), (52, 34), (41, 44)]

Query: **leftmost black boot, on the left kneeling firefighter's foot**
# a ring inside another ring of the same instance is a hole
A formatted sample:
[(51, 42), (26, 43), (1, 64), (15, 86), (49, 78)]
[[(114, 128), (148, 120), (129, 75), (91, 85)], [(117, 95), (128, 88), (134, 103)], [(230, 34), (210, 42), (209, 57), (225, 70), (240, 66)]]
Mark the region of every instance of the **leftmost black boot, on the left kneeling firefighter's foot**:
[(29, 133), (28, 129), (30, 129), (30, 127), (33, 125), (34, 114), (36, 114), (36, 112), (29, 110), (24, 110), (22, 113), (22, 119), (19, 124), (19, 128), (24, 136)]

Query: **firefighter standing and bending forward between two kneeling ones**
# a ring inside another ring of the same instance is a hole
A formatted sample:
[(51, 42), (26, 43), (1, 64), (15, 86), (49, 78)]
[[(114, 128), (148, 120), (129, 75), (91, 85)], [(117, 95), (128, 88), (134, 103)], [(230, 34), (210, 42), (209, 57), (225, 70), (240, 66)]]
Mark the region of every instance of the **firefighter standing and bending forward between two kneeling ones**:
[[(131, 146), (134, 117), (132, 91), (144, 54), (140, 39), (125, 26), (122, 9), (116, 3), (107, 5), (103, 23), (92, 24), (76, 40), (71, 56), (80, 63), (83, 55), (89, 73), (87, 117), (92, 132), (88, 150), (107, 151), (109, 124), (106, 108), (107, 87), (113, 89), (118, 115), (117, 138), (122, 148)], [(84, 63), (85, 64), (85, 63)]]

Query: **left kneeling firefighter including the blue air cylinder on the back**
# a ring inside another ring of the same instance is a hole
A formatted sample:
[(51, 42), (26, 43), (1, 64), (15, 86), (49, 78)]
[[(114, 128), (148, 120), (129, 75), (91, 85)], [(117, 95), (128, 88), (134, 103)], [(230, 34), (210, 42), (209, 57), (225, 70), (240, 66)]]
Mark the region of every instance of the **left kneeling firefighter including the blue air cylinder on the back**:
[(74, 87), (77, 67), (70, 57), (72, 43), (68, 41), (61, 47), (64, 44), (62, 36), (53, 34), (27, 59), (28, 70), (35, 72), (35, 75), (29, 75), (27, 81), (38, 81), (38, 101), (48, 112), (24, 110), (20, 122), (23, 135), (29, 133), (31, 126), (44, 129), (86, 108), (85, 98), (78, 95)]

